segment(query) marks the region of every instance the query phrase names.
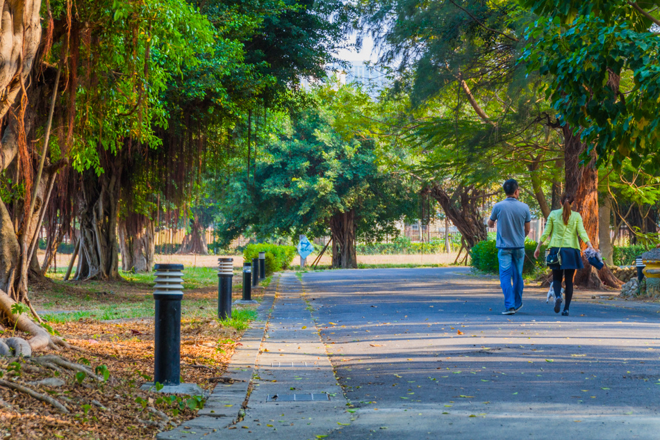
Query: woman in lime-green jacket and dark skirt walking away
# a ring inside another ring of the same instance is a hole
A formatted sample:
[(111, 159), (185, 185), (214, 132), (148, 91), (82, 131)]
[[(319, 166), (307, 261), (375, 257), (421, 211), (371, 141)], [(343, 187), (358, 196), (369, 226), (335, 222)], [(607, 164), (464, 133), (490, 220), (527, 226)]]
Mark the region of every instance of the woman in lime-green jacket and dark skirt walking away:
[(561, 195), (561, 209), (550, 212), (547, 216), (545, 231), (538, 241), (534, 258), (538, 259), (541, 254), (541, 245), (550, 236), (550, 255), (555, 257), (556, 264), (550, 265), (552, 269), (552, 288), (554, 288), (554, 313), (559, 313), (561, 308), (561, 279), (566, 282), (566, 304), (564, 304), (562, 316), (568, 316), (568, 307), (573, 298), (573, 276), (575, 270), (584, 268), (580, 255), (580, 247), (577, 236), (584, 241), (587, 247), (591, 245), (589, 236), (584, 230), (582, 216), (570, 209), (574, 197), (570, 194)]

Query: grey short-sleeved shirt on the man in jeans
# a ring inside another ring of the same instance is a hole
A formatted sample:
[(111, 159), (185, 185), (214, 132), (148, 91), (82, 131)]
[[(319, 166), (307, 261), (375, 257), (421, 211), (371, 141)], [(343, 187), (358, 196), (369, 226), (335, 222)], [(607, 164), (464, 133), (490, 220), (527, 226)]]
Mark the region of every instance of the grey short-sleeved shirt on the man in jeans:
[(490, 220), (497, 222), (497, 249), (525, 249), (525, 223), (531, 222), (527, 204), (506, 197), (493, 206)]

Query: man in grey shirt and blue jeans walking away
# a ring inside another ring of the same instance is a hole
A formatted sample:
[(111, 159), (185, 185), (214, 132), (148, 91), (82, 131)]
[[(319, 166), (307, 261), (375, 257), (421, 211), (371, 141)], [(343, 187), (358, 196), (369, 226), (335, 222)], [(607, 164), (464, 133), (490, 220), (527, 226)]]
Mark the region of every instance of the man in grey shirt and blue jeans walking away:
[[(525, 237), (529, 234), (529, 206), (518, 201), (520, 187), (514, 179), (502, 185), (506, 199), (493, 206), (488, 227), (497, 222), (497, 258), (500, 259), (500, 284), (504, 293), (502, 315), (513, 315), (522, 307), (522, 263), (525, 261)], [(513, 285), (511, 284), (513, 280)]]

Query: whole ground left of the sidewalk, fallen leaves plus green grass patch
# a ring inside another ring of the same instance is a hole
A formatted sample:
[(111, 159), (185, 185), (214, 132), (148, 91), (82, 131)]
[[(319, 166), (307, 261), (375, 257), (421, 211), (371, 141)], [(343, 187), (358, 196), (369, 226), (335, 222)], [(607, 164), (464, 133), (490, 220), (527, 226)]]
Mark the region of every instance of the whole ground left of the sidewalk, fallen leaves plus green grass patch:
[[(190, 267), (189, 259), (181, 262)], [(137, 281), (65, 283), (56, 279), (31, 284), (35, 309), (72, 346), (38, 355), (56, 355), (80, 364), (85, 374), (60, 364), (44, 367), (38, 364), (39, 357), (0, 358), (0, 381), (53, 398), (69, 413), (0, 382), (0, 439), (154, 439), (158, 431), (195, 416), (196, 398), (165, 400), (139, 388), (154, 375), (151, 279), (149, 275)], [(233, 297), (238, 299), (240, 277), (233, 281)], [(182, 302), (181, 378), (211, 391), (222, 380), (247, 322), (256, 313), (254, 307), (235, 308), (232, 320), (219, 321), (215, 270), (202, 270), (192, 282), (196, 287), (185, 290)], [(259, 300), (262, 291), (254, 291), (253, 299)], [(3, 337), (29, 337), (0, 329)], [(53, 377), (63, 383), (36, 383)]]

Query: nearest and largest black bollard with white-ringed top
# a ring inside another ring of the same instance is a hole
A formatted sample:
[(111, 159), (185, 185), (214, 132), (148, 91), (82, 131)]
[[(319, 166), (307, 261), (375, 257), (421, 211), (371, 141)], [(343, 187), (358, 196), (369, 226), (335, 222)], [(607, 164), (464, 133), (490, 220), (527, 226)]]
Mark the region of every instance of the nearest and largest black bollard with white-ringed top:
[(183, 264), (156, 264), (154, 382), (181, 383), (181, 300)]

